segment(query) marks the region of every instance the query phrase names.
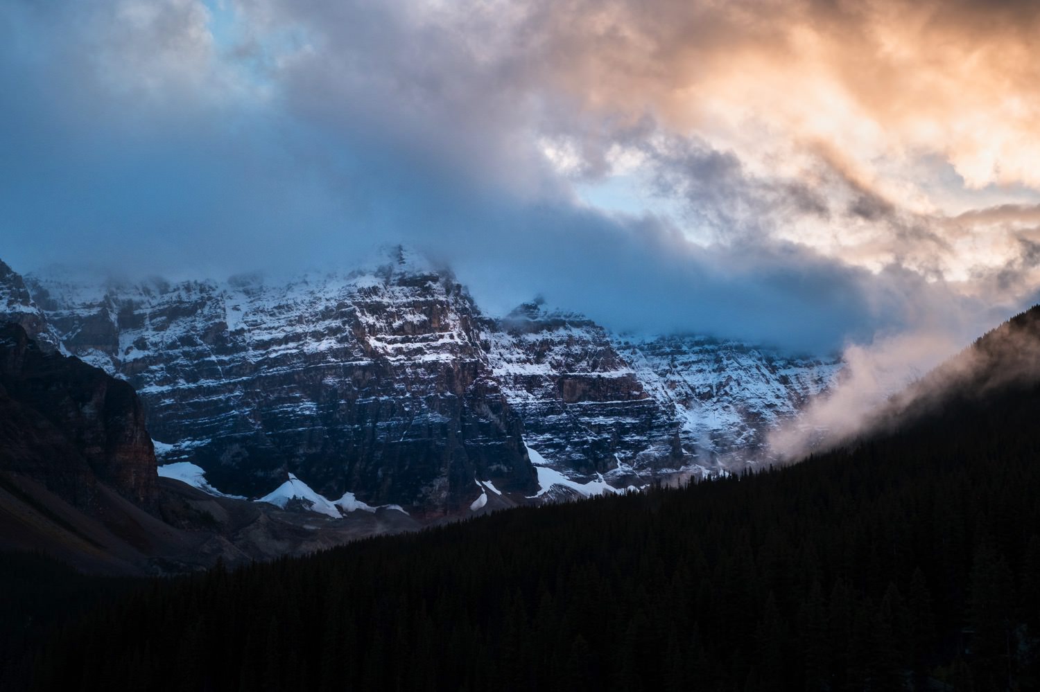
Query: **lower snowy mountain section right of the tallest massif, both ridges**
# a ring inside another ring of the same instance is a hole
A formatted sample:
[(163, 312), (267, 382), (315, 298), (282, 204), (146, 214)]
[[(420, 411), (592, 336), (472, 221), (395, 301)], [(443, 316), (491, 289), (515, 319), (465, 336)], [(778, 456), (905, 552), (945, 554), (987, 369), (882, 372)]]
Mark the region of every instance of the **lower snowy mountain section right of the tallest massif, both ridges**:
[(841, 368), (836, 358), (696, 335), (613, 336), (540, 301), (496, 328), (495, 377), (527, 444), (557, 468), (623, 483), (646, 471), (758, 460), (769, 429)]

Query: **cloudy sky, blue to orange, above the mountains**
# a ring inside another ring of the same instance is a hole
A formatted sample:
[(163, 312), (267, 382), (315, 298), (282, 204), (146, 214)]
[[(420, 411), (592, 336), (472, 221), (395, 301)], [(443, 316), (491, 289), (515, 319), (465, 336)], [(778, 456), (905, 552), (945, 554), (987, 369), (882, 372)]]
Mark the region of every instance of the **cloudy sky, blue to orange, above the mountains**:
[(1038, 30), (1010, 0), (6, 0), (0, 259), (404, 242), (492, 314), (927, 367), (1040, 292)]

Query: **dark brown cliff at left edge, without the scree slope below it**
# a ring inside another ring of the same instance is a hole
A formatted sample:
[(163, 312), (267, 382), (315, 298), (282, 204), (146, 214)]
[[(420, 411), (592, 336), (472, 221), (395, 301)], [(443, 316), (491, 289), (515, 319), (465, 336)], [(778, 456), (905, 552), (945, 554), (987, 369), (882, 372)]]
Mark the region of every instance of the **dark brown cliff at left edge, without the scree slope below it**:
[(127, 382), (44, 352), (7, 322), (0, 325), (0, 470), (38, 480), (79, 507), (93, 503), (96, 481), (155, 505), (155, 453)]

